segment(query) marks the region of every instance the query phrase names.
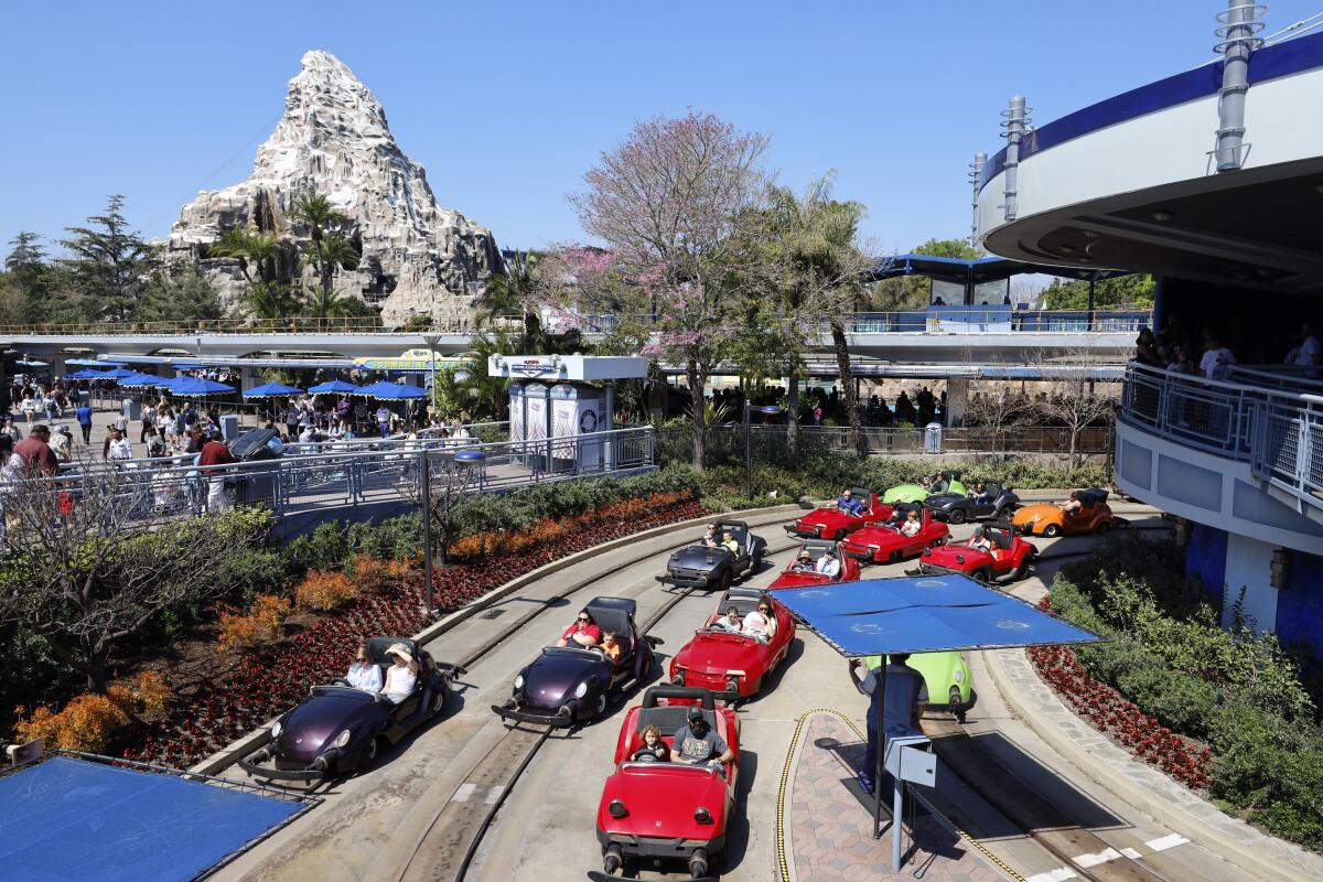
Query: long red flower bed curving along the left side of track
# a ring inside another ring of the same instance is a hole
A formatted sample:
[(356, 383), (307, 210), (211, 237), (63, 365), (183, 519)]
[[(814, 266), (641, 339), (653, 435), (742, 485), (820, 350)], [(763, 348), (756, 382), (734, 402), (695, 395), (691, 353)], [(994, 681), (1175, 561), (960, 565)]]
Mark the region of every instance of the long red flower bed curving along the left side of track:
[[(627, 522), (579, 529), (504, 557), (499, 567), (487, 562), (438, 567), (434, 599), (442, 610), (456, 608), (552, 561), (703, 512), (703, 505), (691, 500)], [(343, 676), (363, 637), (422, 631), (427, 624), (422, 603), (423, 579), (415, 571), (393, 591), (356, 600), (280, 645), (247, 653), (234, 673), (172, 707), (169, 721), (144, 734), (124, 758), (181, 768), (197, 763), (298, 703), (312, 685)]]

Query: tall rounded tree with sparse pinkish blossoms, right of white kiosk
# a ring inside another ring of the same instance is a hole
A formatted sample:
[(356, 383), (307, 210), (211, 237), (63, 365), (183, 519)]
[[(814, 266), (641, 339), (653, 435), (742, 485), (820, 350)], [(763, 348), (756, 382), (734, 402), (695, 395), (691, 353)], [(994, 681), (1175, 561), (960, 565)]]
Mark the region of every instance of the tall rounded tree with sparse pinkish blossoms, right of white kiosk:
[(765, 194), (767, 139), (712, 114), (642, 122), (570, 196), (583, 229), (614, 253), (631, 301), (651, 317), (644, 354), (684, 366), (693, 465), (706, 448), (704, 386), (740, 329), (740, 220)]

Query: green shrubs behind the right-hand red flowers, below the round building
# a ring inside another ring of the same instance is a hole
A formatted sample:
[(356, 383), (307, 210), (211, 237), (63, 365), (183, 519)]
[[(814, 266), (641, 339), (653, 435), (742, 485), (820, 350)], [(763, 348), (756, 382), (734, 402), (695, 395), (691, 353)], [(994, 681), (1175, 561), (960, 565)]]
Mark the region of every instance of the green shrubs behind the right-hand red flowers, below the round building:
[(1111, 637), (1076, 651), (1089, 673), (1209, 744), (1215, 799), (1275, 836), (1323, 849), (1323, 727), (1299, 669), (1273, 635), (1218, 627), (1183, 569), (1171, 541), (1111, 537), (1061, 569), (1052, 607)]

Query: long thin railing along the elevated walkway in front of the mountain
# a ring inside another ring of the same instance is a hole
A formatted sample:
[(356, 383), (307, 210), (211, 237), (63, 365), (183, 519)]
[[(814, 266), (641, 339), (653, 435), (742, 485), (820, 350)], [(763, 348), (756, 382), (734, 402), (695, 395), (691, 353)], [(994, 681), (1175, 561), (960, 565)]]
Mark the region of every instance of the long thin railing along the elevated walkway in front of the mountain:
[[(558, 313), (541, 319), (552, 331), (578, 329), (586, 335), (606, 335), (622, 327), (651, 328), (656, 317), (651, 315), (611, 313)], [(1151, 325), (1152, 312), (1147, 309), (1036, 309), (1013, 311), (1004, 305), (988, 307), (934, 307), (929, 309), (896, 312), (859, 312), (845, 324), (847, 333), (1080, 333), (1111, 332), (1132, 333)], [(475, 319), (433, 320), (417, 327), (388, 328), (380, 319), (278, 319), (253, 321), (246, 319), (209, 319), (194, 321), (75, 321), (64, 324), (11, 324), (0, 325), (0, 336), (160, 336), (188, 337), (206, 335), (291, 335), (291, 333), (450, 333), (471, 335), (476, 331), (524, 327), (523, 316), (497, 316), (478, 323)], [(830, 333), (823, 324), (822, 333)]]

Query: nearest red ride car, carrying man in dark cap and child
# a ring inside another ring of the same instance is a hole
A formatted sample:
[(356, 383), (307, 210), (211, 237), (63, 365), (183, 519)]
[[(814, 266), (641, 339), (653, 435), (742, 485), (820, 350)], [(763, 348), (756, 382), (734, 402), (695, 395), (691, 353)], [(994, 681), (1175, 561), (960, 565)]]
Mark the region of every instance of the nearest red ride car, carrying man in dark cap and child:
[[(660, 703), (681, 700), (684, 703)], [(687, 725), (697, 702), (708, 727), (726, 743), (734, 760), (721, 767), (673, 762), (634, 760), (643, 730), (656, 726), (662, 741), (676, 754), (675, 734)], [(736, 805), (740, 771), (740, 722), (730, 707), (717, 707), (706, 689), (652, 686), (643, 705), (631, 707), (615, 744), (615, 774), (602, 787), (597, 808), (597, 838), (602, 869), (593, 879), (617, 878), (631, 858), (684, 861), (693, 879), (708, 877), (709, 866), (726, 845), (726, 829)]]

